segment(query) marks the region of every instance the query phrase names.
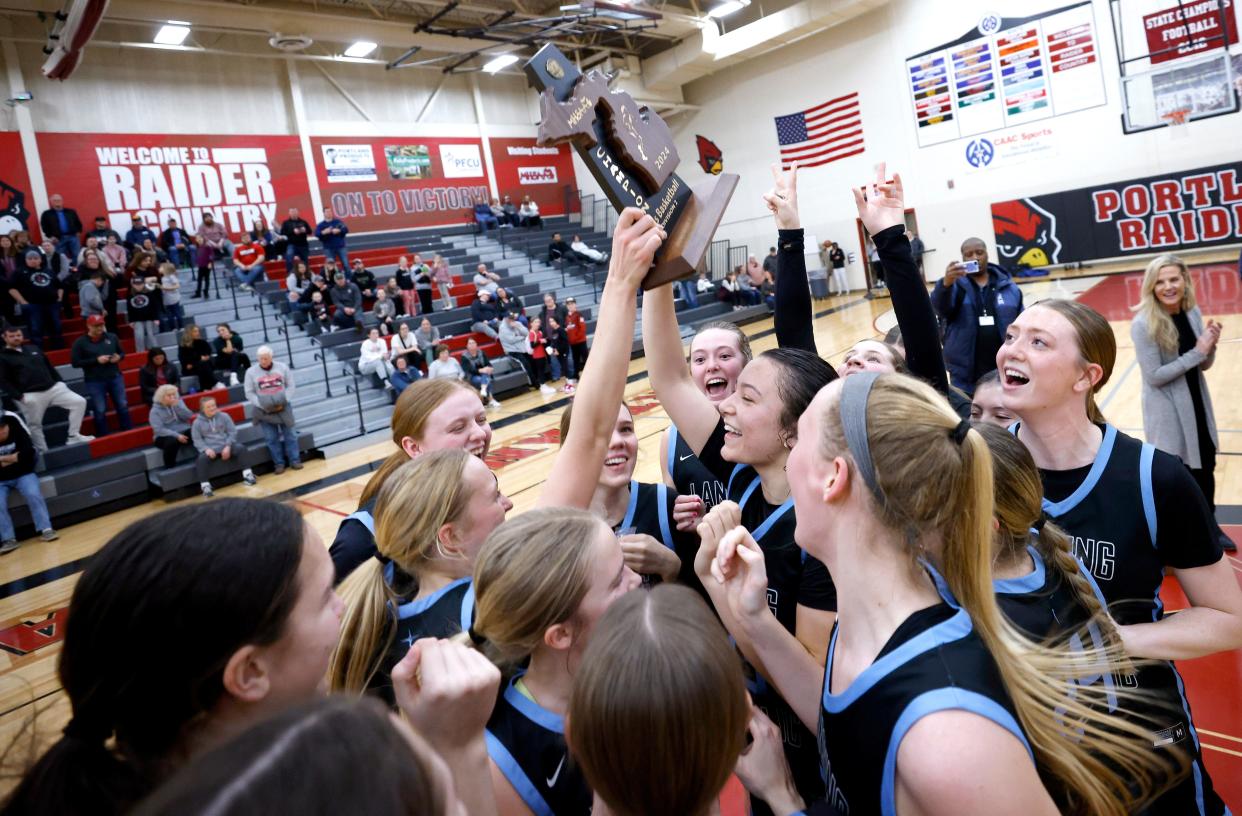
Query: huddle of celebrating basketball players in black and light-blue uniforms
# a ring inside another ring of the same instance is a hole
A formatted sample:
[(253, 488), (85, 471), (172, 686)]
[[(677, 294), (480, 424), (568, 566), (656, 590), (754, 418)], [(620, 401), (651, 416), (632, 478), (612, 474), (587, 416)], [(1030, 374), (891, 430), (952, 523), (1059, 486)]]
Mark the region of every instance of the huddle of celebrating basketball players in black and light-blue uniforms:
[(626, 210), (534, 509), (438, 379), (328, 548), (274, 502), (132, 524), (75, 589), (72, 719), (2, 812), (700, 816), (737, 775), (776, 816), (1227, 814), (1174, 661), (1242, 646), (1242, 591), (1186, 466), (1095, 404), (1108, 322), (1028, 306), (972, 406), (881, 166), (853, 196), (899, 342), (833, 368), (796, 181), (764, 196), (779, 348), (714, 323), (686, 356), (672, 287), (642, 293), (664, 482), (633, 479), (623, 396), (666, 236)]

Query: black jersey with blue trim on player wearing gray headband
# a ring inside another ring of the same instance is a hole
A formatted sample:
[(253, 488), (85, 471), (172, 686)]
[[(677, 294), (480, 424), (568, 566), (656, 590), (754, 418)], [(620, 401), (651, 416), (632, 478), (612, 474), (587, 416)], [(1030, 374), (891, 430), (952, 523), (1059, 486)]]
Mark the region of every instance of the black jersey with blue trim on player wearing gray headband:
[(833, 693), (836, 645), (833, 628), (820, 704), (820, 753), (828, 804), (841, 814), (897, 812), (897, 750), (928, 714), (972, 712), (1013, 734), (1031, 753), (1000, 669), (965, 610), (941, 602), (914, 612), (876, 661)]

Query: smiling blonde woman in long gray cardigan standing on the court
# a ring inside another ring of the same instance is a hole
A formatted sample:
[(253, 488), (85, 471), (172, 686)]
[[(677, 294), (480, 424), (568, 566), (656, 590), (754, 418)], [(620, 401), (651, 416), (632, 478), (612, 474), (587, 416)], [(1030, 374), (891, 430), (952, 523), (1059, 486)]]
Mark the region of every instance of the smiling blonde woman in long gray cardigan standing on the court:
[(1216, 416), (1203, 371), (1216, 360), (1221, 324), (1203, 322), (1186, 263), (1161, 255), (1148, 265), (1130, 338), (1143, 371), (1143, 432), (1180, 456), (1216, 509)]

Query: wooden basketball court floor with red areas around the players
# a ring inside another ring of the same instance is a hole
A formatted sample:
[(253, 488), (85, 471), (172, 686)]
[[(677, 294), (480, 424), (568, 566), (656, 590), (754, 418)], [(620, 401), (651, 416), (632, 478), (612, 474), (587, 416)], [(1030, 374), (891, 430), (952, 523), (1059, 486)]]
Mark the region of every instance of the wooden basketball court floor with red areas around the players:
[[(1207, 373), (1221, 451), (1217, 466), (1220, 517), (1235, 540), (1242, 540), (1242, 283), (1237, 268), (1225, 258), (1195, 267), (1200, 304), (1205, 315), (1225, 325), (1216, 365)], [(1079, 297), (1113, 323), (1118, 338), (1117, 369), (1100, 395), (1100, 405), (1120, 430), (1141, 436), (1140, 374), (1129, 335), (1129, 307), (1138, 302), (1140, 276), (1113, 267), (1094, 267), (1089, 274), (1061, 281), (1026, 282), (1026, 303), (1045, 297)], [(892, 324), (888, 302), (847, 294), (815, 304), (816, 342), (821, 354), (840, 361), (854, 342), (882, 334)], [(774, 348), (771, 320), (750, 324), (755, 351)], [(626, 399), (633, 407), (641, 440), (636, 478), (660, 479), (658, 437), (668, 417), (651, 390), (642, 359), (630, 364)], [(513, 499), (514, 513), (529, 508), (538, 496), (556, 450), (556, 425), (566, 404), (563, 394), (514, 397), (492, 412), (496, 425), (488, 463), (498, 473), (502, 489)], [(256, 487), (237, 484), (219, 491), (224, 496), (272, 497), (296, 502), (325, 544), (342, 518), (358, 505), (370, 472), (392, 451), (388, 440), (358, 450), (307, 462), (301, 472), (263, 476)], [(185, 499), (210, 501), (210, 499)], [(56, 663), (66, 620), (66, 607), (86, 560), (129, 522), (163, 509), (152, 502), (61, 530), (61, 540), (26, 542), (0, 559), (0, 744), (7, 745), (31, 723), (40, 746), (53, 739), (68, 719), (60, 691)], [(210, 534), (210, 533), (205, 533)], [(1228, 556), (1242, 580), (1242, 561)], [(1165, 584), (1165, 605), (1175, 611), (1185, 605), (1176, 583)], [(158, 650), (159, 643), (150, 648)], [(1233, 807), (1242, 806), (1242, 653), (1232, 652), (1179, 663), (1200, 729), (1203, 754), (1217, 790)], [(20, 754), (20, 751), (17, 751)], [(14, 754), (10, 759), (16, 759)], [(727, 812), (738, 797), (727, 796)], [(740, 812), (740, 810), (738, 811)]]

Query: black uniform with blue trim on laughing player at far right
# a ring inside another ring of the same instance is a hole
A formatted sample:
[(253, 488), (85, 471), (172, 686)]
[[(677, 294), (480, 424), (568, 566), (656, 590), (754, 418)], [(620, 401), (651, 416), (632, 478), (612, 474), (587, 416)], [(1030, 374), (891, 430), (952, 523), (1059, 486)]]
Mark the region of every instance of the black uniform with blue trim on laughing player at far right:
[[(1092, 465), (1041, 471), (1043, 509), (1069, 534), (1074, 554), (1098, 583), (1118, 623), (1159, 621), (1165, 568), (1215, 564), (1223, 556), (1221, 542), (1202, 492), (1177, 457), (1112, 425), (1100, 430), (1103, 440)], [(1146, 812), (1227, 812), (1203, 768), (1176, 667), (1171, 661), (1144, 666), (1138, 684), (1177, 710), (1158, 722), (1155, 744), (1176, 746), (1192, 758), (1187, 779)]]

